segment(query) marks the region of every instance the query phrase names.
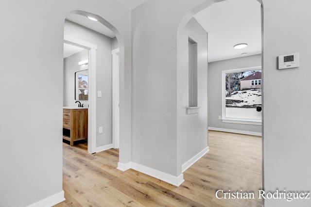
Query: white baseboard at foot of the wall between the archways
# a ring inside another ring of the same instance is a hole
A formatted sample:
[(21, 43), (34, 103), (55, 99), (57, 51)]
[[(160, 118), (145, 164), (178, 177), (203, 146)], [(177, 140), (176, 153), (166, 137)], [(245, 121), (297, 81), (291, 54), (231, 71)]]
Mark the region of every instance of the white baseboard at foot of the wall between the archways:
[(184, 180), (184, 175), (181, 174), (178, 177), (173, 176), (173, 175), (169, 175), (160, 171), (157, 171), (155, 169), (152, 169), (150, 167), (146, 167), (143, 165), (140, 165), (138, 163), (135, 162), (128, 162), (126, 164), (122, 164), (122, 163), (118, 163), (118, 167), (117, 169), (121, 170), (121, 171), (126, 171), (128, 169), (133, 169), (136, 170), (140, 173), (146, 174), (146, 175), (150, 175), (152, 177), (155, 177), (159, 180), (162, 180), (164, 182), (170, 183), (173, 186), (180, 186), (185, 180)]

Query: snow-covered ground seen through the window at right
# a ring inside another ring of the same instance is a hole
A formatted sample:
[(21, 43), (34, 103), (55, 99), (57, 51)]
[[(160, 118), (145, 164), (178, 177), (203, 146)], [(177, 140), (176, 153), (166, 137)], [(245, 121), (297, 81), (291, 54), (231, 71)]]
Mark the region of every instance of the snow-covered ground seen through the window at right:
[(235, 91), (225, 99), (227, 118), (261, 119), (261, 111), (256, 110), (261, 106), (261, 89)]

